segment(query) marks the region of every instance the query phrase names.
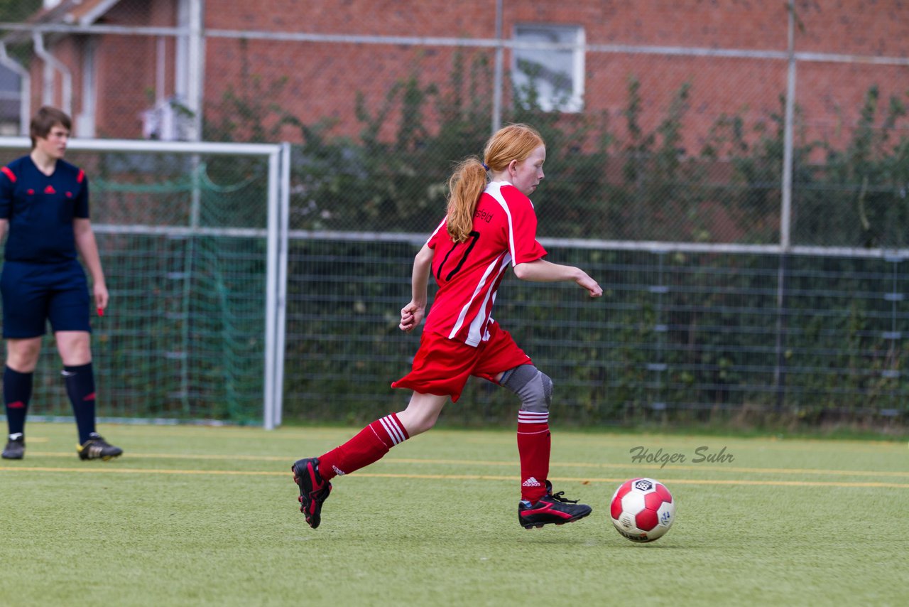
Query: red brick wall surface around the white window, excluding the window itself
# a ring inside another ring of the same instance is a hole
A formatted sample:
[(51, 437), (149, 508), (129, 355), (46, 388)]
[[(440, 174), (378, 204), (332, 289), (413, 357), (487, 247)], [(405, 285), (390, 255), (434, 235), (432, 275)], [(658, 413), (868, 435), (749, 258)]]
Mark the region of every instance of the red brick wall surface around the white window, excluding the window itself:
[[(495, 0), (208, 0), (209, 29), (307, 32), (335, 35), (399, 35), (491, 39)], [(799, 24), (795, 48), (802, 52), (865, 56), (909, 56), (909, 4), (904, 0), (839, 0), (796, 4)], [(504, 35), (515, 24), (583, 25), (588, 45), (729, 48), (784, 52), (788, 11), (783, 0), (504, 0)], [(175, 18), (174, 0), (124, 0), (105, 15), (115, 25), (167, 25)], [(58, 43), (65, 48), (66, 40)], [(173, 92), (174, 43), (165, 52), (166, 91)], [(139, 36), (103, 36), (98, 50), (97, 131), (105, 137), (138, 137), (139, 115), (155, 90), (156, 42)], [(66, 51), (72, 55), (71, 51)], [(491, 70), (492, 49), (468, 49)], [(416, 76), (421, 86), (446, 92), (455, 51), (448, 46), (239, 41), (208, 37), (205, 43), (205, 116), (230, 118), (222, 104), (230, 90), (247, 100), (273, 104), (312, 124), (330, 120), (335, 135), (355, 136), (357, 93), (372, 113), (385, 103), (395, 84)], [(78, 62), (72, 56), (74, 71)], [(510, 53), (505, 52), (506, 69)], [(40, 74), (40, 72), (37, 72)], [(708, 58), (650, 54), (589, 53), (585, 58), (584, 113), (605, 116), (621, 129), (631, 78), (641, 83), (643, 125), (653, 129), (672, 97), (690, 86), (689, 130), (684, 145), (699, 146), (719, 116), (743, 116), (753, 124), (780, 111), (785, 92), (782, 60)], [(40, 77), (35, 78), (40, 83)], [(905, 96), (909, 67), (800, 62), (797, 102), (812, 136), (843, 137), (854, 125), (870, 86), (884, 98)], [(479, 83), (480, 88), (486, 86)], [(35, 86), (37, 88), (37, 86)], [(75, 87), (75, 111), (80, 96)], [(39, 94), (35, 92), (35, 97)], [(508, 99), (506, 98), (507, 102)], [(398, 115), (392, 108), (388, 124)], [(427, 104), (432, 120), (435, 106)], [(277, 114), (273, 115), (272, 121)], [(390, 135), (389, 126), (385, 135)], [(294, 129), (280, 137), (298, 139)]]

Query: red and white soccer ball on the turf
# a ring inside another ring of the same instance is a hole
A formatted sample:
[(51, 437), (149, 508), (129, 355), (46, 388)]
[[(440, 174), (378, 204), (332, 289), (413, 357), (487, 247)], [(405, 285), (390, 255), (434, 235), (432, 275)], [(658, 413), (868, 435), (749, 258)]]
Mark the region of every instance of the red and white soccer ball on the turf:
[(632, 479), (615, 490), (609, 516), (616, 531), (629, 540), (654, 541), (673, 526), (675, 501), (662, 482)]

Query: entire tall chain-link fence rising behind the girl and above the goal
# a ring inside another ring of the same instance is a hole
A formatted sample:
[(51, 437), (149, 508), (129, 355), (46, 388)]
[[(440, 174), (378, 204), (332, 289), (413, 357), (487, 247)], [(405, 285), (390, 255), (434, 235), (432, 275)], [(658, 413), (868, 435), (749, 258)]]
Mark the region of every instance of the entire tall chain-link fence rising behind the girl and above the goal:
[[(527, 122), (540, 237), (607, 300), (509, 283), (499, 316), (579, 420), (889, 418), (909, 391), (909, 16), (863, 4), (63, 2), (0, 25), (0, 63), (84, 137), (294, 143), (285, 417), (399, 406), (415, 245), (452, 163)], [(497, 398), (475, 387), (464, 415)]]

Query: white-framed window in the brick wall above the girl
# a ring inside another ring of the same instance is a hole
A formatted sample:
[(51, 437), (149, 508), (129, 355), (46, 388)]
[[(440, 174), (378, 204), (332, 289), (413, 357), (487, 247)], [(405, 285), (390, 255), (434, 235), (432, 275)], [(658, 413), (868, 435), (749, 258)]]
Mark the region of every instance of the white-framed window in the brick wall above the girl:
[[(515, 25), (514, 40), (522, 43), (512, 53), (512, 82), (518, 103), (546, 111), (583, 110), (584, 28)], [(534, 48), (534, 43), (547, 46)]]

